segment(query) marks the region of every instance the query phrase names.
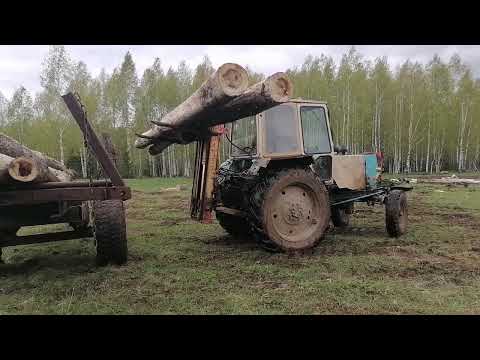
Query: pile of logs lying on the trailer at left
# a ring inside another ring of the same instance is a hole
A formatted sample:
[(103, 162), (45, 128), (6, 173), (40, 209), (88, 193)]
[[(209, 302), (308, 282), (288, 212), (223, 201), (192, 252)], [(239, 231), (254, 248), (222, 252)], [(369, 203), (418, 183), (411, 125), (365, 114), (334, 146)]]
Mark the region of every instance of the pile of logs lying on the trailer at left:
[(0, 184), (66, 182), (74, 175), (59, 161), (0, 133)]

